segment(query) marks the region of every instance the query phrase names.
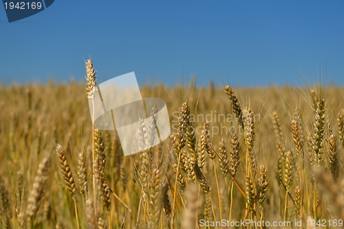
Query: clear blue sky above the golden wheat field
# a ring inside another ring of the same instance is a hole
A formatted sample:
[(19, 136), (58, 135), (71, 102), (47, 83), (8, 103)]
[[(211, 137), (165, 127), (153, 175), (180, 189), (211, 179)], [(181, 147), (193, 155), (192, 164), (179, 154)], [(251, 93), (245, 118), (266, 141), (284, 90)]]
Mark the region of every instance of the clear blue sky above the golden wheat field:
[(8, 23), (0, 6), (0, 82), (98, 82), (135, 72), (140, 85), (303, 85), (328, 64), (344, 85), (344, 1), (58, 1)]

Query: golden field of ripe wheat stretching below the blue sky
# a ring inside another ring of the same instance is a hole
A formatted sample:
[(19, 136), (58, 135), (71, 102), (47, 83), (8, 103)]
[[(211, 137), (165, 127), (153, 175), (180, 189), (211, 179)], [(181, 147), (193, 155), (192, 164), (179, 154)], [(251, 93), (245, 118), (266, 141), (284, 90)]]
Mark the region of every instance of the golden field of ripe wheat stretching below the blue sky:
[(124, 156), (92, 124), (85, 67), (86, 86), (0, 87), (0, 228), (343, 226), (343, 88), (142, 87), (166, 101), (171, 138)]

